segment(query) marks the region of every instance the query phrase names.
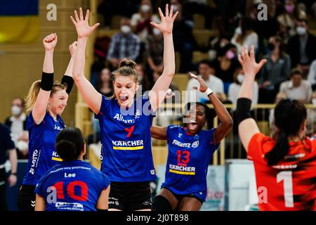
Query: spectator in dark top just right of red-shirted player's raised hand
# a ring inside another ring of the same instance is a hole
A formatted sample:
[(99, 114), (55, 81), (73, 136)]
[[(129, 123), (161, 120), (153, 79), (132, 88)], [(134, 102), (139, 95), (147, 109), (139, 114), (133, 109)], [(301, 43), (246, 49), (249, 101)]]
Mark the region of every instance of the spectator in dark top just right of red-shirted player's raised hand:
[(263, 65), (260, 76), (260, 103), (273, 103), (279, 91), (279, 85), (288, 79), (291, 72), (291, 60), (284, 52), (281, 37), (273, 36), (268, 40), (267, 63)]

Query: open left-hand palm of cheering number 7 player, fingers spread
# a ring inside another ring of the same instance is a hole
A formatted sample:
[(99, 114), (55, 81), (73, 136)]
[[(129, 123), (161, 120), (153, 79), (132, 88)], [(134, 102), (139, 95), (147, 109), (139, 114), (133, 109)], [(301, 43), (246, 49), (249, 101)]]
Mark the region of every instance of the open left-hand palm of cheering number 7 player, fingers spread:
[(72, 19), (72, 23), (76, 27), (79, 38), (88, 37), (93, 32), (93, 30), (95, 30), (96, 27), (100, 25), (100, 23), (96, 23), (95, 25), (90, 27), (88, 24), (89, 10), (86, 11), (86, 17), (84, 18), (84, 13), (82, 12), (81, 7), (79, 8), (79, 16), (77, 11), (74, 11), (74, 18), (76, 18), (76, 20), (74, 20), (72, 16), (70, 16), (70, 18)]

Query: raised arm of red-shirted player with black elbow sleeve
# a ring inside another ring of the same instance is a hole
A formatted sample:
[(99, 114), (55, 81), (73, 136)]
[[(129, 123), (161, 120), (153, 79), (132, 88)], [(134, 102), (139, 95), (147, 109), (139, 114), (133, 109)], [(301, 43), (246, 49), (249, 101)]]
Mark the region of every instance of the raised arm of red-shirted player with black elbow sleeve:
[(239, 138), (242, 141), (244, 149), (248, 151), (249, 142), (254, 134), (259, 133), (258, 125), (256, 121), (251, 118), (250, 108), (251, 101), (254, 92), (254, 80), (256, 74), (267, 62), (263, 59), (260, 63), (256, 63), (254, 56), (254, 46), (251, 46), (250, 56), (248, 53), (248, 46), (242, 47), (242, 53), (238, 56), (239, 63), (242, 64), (244, 70), (244, 82), (240, 88), (238, 99), (237, 99), (237, 122), (239, 130)]

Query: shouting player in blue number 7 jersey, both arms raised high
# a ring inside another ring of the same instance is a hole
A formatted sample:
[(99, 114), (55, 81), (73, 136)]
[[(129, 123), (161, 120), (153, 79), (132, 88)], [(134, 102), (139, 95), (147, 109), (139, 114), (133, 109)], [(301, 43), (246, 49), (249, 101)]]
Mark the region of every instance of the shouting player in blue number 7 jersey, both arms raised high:
[(98, 24), (89, 27), (80, 8), (72, 18), (78, 48), (73, 77), (81, 96), (100, 120), (102, 143), (101, 170), (111, 181), (109, 210), (150, 210), (150, 184), (157, 178), (152, 161), (150, 126), (154, 111), (164, 101), (175, 72), (172, 27), (176, 18), (173, 7), (166, 16), (159, 8), (162, 23), (151, 23), (164, 34), (164, 71), (154, 87), (144, 96), (134, 98), (138, 89), (136, 63), (122, 60), (114, 74), (114, 96), (106, 98), (96, 91), (83, 75), (86, 41)]

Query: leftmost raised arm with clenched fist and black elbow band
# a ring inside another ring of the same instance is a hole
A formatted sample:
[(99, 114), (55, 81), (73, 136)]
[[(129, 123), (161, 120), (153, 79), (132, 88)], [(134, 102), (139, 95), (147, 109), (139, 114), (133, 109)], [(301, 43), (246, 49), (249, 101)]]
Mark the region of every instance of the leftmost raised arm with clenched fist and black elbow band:
[(43, 39), (45, 47), (43, 74), (41, 77), (41, 89), (35, 101), (32, 116), (36, 124), (40, 124), (45, 117), (46, 108), (51, 95), (51, 87), (53, 86), (53, 53), (57, 44), (57, 35), (50, 34)]

